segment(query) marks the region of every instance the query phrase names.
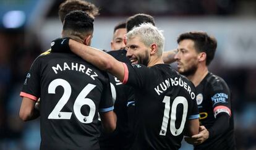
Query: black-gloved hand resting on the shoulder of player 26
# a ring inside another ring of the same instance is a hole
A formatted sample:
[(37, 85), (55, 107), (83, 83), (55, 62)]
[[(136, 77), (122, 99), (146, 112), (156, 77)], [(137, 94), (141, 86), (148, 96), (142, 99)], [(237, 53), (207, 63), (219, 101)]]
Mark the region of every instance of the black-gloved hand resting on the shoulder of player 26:
[(51, 41), (51, 52), (71, 52), (69, 48), (70, 38), (58, 38)]

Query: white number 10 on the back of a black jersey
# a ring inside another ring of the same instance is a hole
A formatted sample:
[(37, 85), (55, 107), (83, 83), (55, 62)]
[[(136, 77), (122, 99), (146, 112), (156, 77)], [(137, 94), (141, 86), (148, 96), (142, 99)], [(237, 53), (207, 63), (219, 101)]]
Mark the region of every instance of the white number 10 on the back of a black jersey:
[[(166, 135), (168, 122), (169, 122), (170, 100), (171, 100), (171, 98), (169, 96), (164, 96), (164, 99), (163, 99), (163, 102), (165, 103), (164, 116), (163, 116), (162, 127), (161, 127), (161, 130), (159, 133), (160, 135), (163, 135), (163, 136)], [(176, 112), (177, 112), (178, 104), (183, 105), (183, 113), (182, 113), (181, 126), (179, 128), (176, 128), (175, 122), (176, 122)], [(183, 96), (177, 96), (173, 100), (173, 104), (171, 106), (170, 130), (171, 130), (172, 135), (178, 136), (182, 133), (182, 131), (184, 129), (185, 122), (186, 122), (186, 118), (187, 118), (187, 99), (184, 98)]]

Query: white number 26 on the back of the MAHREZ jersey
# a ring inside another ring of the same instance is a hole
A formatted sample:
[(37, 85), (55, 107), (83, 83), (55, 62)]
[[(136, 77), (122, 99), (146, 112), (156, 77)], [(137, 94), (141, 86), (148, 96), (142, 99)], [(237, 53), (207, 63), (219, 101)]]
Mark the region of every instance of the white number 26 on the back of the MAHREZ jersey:
[[(70, 84), (61, 78), (55, 79), (49, 83), (48, 87), (48, 93), (49, 94), (55, 94), (55, 90), (57, 86), (62, 86), (64, 88), (64, 93), (59, 99), (58, 103), (54, 107), (51, 114), (49, 114), (48, 119), (70, 119), (72, 112), (61, 112), (61, 109), (65, 106), (67, 101), (69, 101), (70, 95), (71, 95), (71, 86)], [(83, 90), (79, 93), (79, 96), (77, 96), (77, 99), (75, 99), (74, 102), (74, 113), (77, 119), (82, 123), (92, 123), (93, 117), (95, 115), (96, 106), (95, 103), (92, 101), (92, 99), (85, 98), (90, 91), (95, 88), (96, 85), (88, 84), (83, 88)], [(88, 116), (82, 115), (80, 109), (83, 105), (87, 105), (90, 107), (90, 112)]]

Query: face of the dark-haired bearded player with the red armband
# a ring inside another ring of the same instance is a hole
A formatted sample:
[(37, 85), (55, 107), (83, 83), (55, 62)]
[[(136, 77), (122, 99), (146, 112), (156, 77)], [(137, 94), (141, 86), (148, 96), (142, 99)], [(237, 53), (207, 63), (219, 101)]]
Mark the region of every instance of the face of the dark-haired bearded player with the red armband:
[(198, 52), (194, 47), (194, 41), (180, 41), (177, 51), (174, 59), (177, 61), (178, 72), (185, 76), (193, 75), (198, 65)]

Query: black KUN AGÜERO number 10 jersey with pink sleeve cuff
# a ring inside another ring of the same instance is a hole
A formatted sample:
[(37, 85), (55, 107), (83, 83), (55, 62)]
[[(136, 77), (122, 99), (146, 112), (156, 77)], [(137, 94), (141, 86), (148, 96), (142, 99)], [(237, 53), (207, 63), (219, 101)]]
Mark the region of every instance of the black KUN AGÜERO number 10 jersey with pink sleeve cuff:
[(179, 149), (187, 120), (199, 117), (194, 85), (167, 64), (124, 66), (123, 83), (134, 87), (132, 149)]

